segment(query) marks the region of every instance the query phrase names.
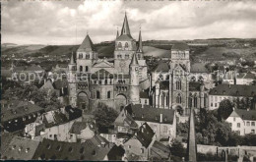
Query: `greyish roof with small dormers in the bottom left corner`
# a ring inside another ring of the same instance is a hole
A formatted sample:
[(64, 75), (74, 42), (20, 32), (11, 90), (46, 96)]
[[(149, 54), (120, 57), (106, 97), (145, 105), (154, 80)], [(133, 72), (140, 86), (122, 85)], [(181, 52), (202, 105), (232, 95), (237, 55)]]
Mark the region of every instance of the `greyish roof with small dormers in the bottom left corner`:
[(32, 160), (32, 156), (39, 144), (39, 141), (15, 136), (2, 157), (14, 160)]

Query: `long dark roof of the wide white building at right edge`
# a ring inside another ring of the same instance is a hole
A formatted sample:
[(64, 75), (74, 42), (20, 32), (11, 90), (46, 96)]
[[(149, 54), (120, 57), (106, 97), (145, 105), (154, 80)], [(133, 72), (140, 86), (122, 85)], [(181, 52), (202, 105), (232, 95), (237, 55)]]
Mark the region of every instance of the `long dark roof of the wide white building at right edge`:
[(256, 94), (256, 85), (219, 84), (211, 89), (209, 94), (253, 97)]

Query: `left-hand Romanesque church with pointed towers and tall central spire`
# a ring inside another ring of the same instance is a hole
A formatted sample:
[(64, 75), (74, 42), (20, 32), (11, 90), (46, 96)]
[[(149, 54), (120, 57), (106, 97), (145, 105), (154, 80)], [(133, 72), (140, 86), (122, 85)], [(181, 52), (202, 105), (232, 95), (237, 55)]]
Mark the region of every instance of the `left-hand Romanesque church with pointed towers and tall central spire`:
[[(126, 14), (120, 35), (117, 31), (113, 56), (99, 59), (97, 55), (89, 35), (76, 55), (72, 54), (68, 65), (70, 104), (90, 111), (101, 102), (119, 111), (126, 104), (139, 103), (140, 82), (148, 81), (148, 69), (141, 31), (136, 42)], [(85, 74), (90, 78), (82, 80)]]

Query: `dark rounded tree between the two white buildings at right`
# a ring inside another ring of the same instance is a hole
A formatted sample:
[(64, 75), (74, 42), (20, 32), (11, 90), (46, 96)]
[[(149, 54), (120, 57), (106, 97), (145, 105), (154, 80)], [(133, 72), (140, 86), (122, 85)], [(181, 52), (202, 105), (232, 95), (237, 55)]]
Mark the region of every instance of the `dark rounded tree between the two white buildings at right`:
[(218, 109), (218, 117), (219, 120), (226, 119), (233, 111), (233, 104), (229, 99), (224, 99), (220, 103), (220, 107)]

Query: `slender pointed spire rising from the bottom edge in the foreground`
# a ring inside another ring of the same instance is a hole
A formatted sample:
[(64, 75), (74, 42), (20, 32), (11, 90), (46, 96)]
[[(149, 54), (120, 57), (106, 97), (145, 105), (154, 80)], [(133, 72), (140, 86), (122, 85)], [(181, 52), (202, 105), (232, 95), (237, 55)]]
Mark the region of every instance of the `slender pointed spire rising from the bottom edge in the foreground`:
[(186, 161), (197, 161), (197, 144), (196, 144), (196, 131), (195, 131), (195, 115), (194, 109), (190, 108), (189, 117), (189, 132), (187, 140), (187, 157)]

